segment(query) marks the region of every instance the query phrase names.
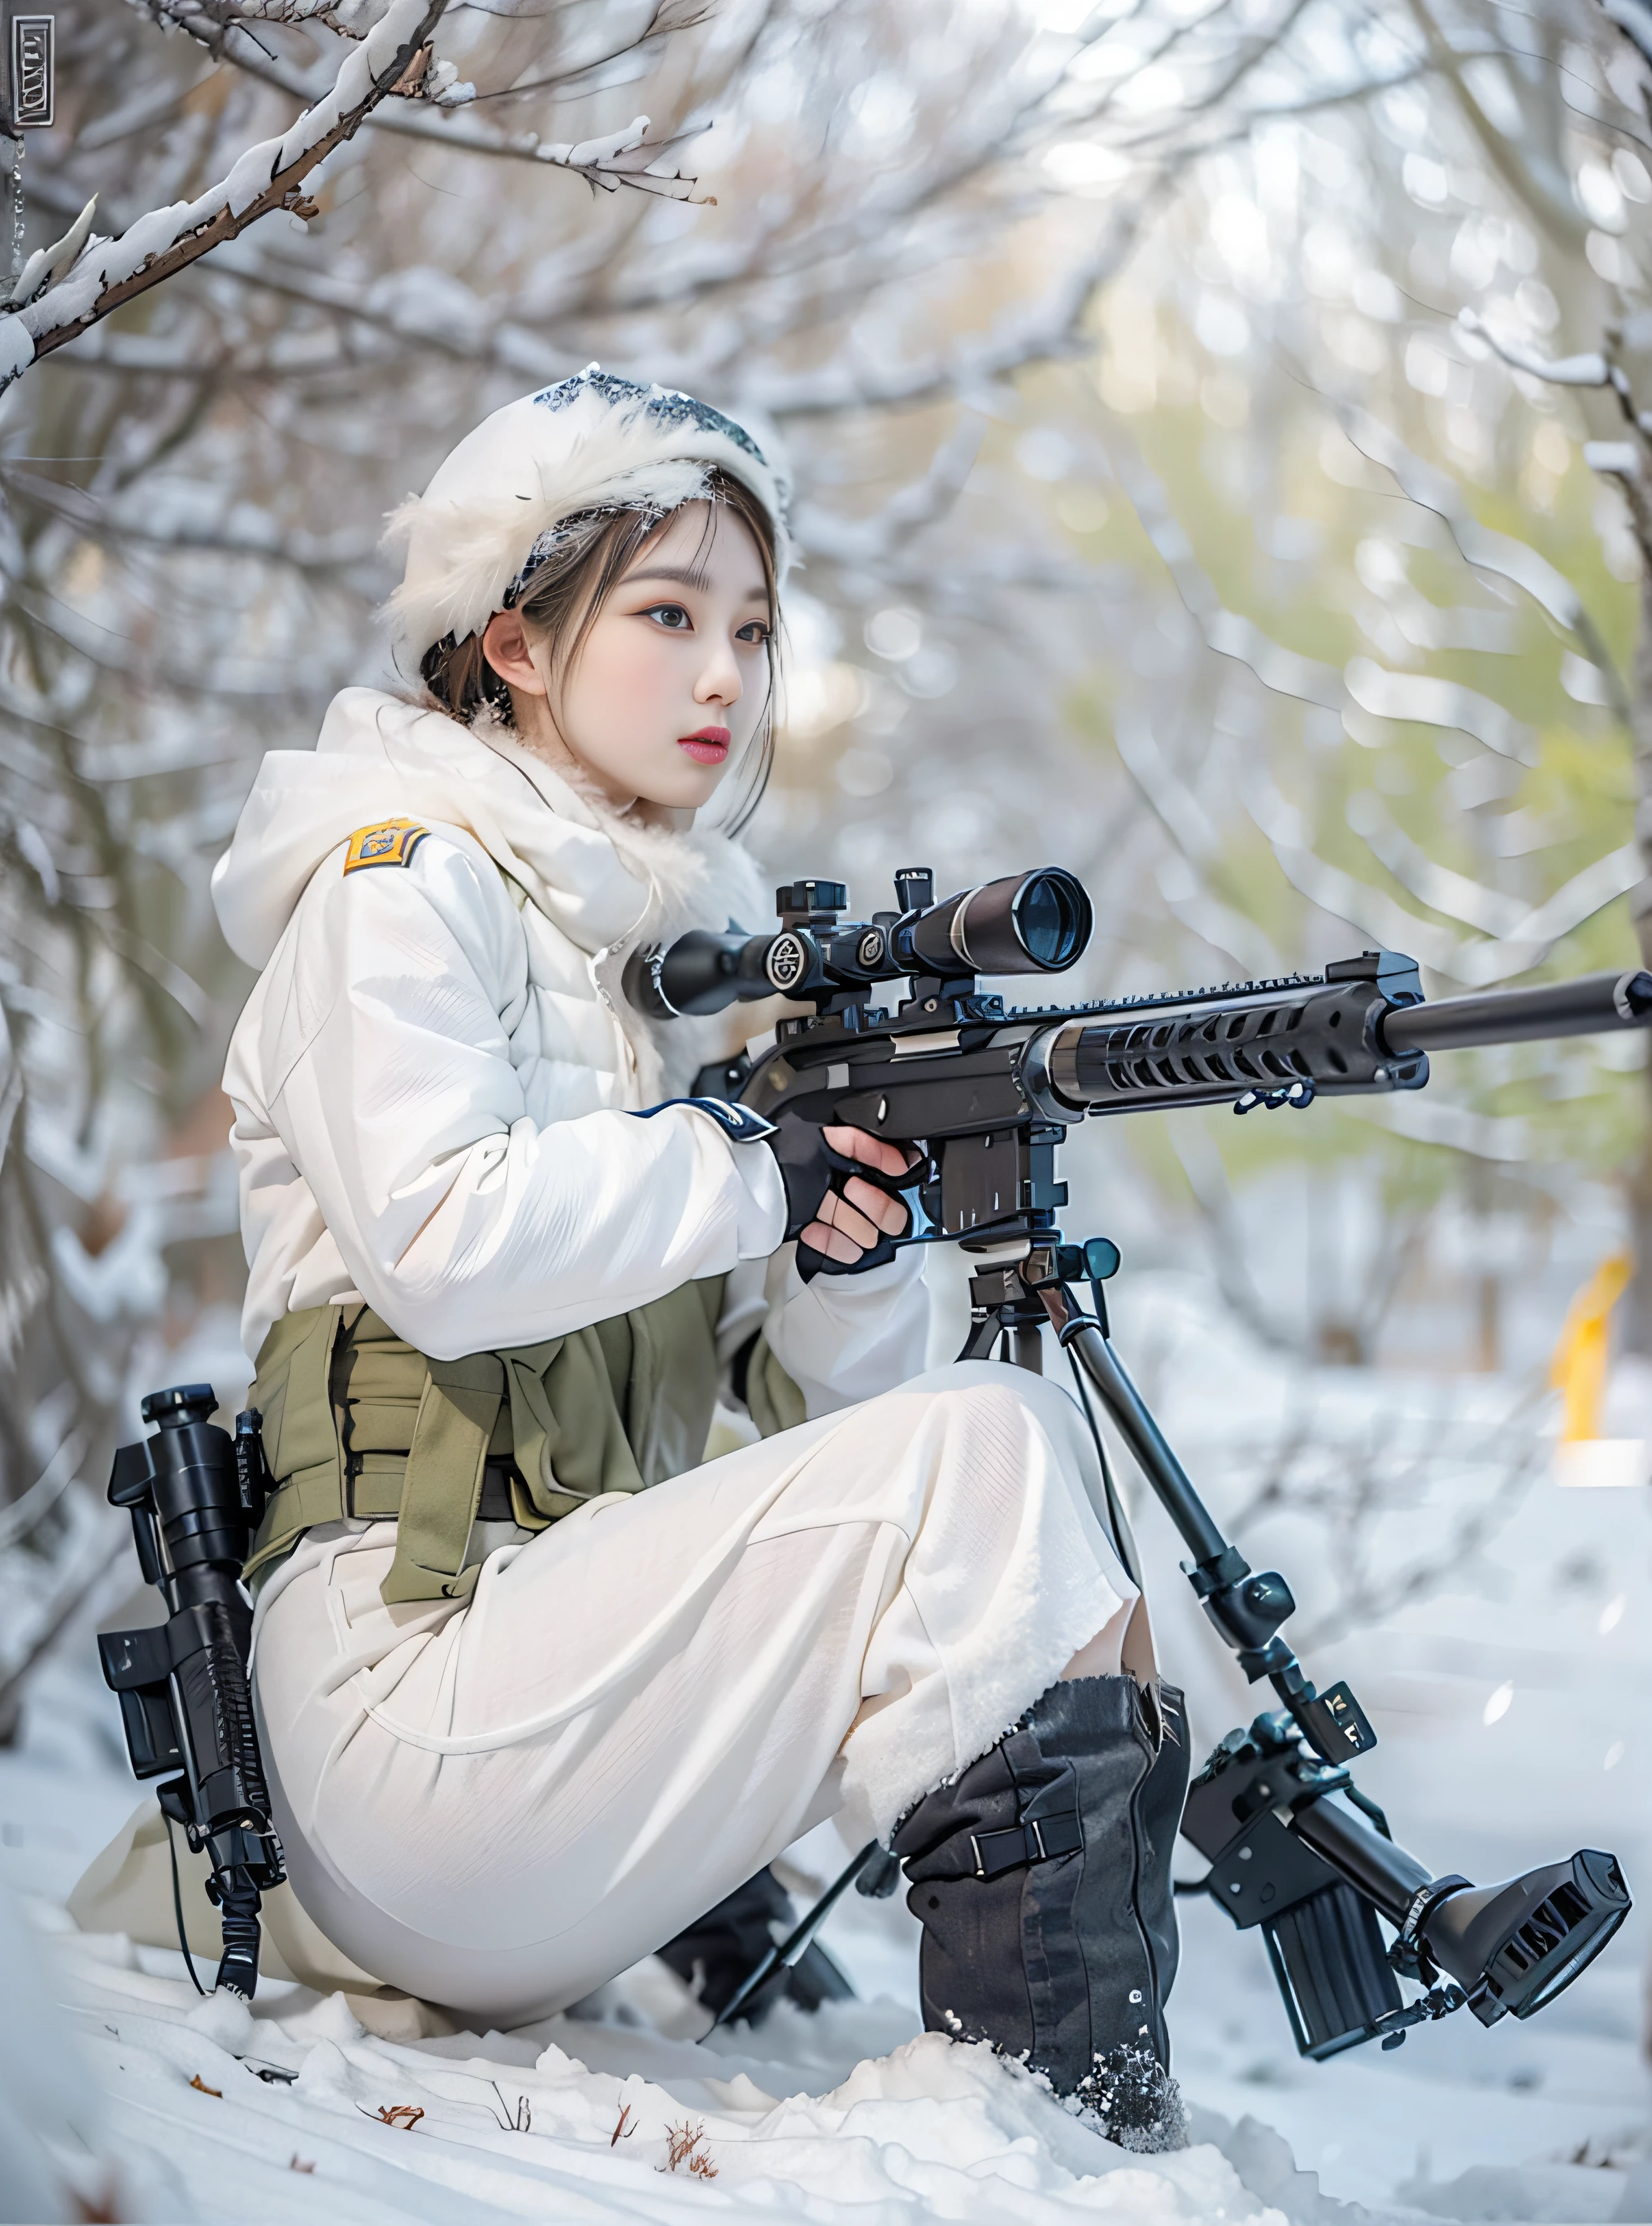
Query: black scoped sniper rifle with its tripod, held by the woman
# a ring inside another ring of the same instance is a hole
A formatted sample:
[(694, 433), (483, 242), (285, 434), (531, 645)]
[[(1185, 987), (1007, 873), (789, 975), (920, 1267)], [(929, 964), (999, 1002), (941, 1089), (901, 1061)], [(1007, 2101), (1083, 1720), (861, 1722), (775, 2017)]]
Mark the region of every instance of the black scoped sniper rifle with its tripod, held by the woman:
[[(1253, 1572), (1222, 1536), (1113, 1349), (1104, 1282), (1118, 1247), (1062, 1240), (1055, 1151), (1086, 1117), (1202, 1104), (1305, 1111), (1316, 1097), (1418, 1091), (1432, 1051), (1639, 1028), (1652, 1020), (1652, 975), (1596, 973), (1425, 1004), (1414, 959), (1365, 951), (1318, 975), (1006, 1008), (980, 977), (1073, 966), (1093, 922), (1084, 886), (1042, 868), (937, 904), (928, 868), (908, 868), (895, 893), (895, 910), (844, 922), (842, 881), (793, 881), (777, 890), (777, 933), (692, 930), (641, 951), (628, 995), (661, 1020), (773, 995), (810, 1004), (773, 1040), (701, 1068), (695, 1093), (770, 1122), (850, 1124), (913, 1149), (917, 1164), (899, 1186), (917, 1191), (926, 1227), (902, 1242), (953, 1240), (977, 1262), (960, 1360), (997, 1349), (1040, 1369), (1049, 1324), (1086, 1414), (1089, 1389), (1100, 1396), (1189, 1547), (1182, 1569), (1204, 1614), (1245, 1676), (1267, 1678), (1282, 1703), (1220, 1741), (1191, 1785), (1182, 1834), (1209, 1863), (1193, 1890), (1242, 1930), (1262, 1930), (1298, 2050), (1322, 2059), (1369, 2039), (1398, 2048), (1407, 2026), (1465, 2003), (1485, 2026), (1532, 2017), (1623, 1923), (1630, 1894), (1616, 1856), (1585, 1848), (1472, 1885), (1394, 1843), (1349, 1772), (1376, 1745), (1369, 1718), (1345, 1681), (1320, 1692), (1307, 1678), (1280, 1634), (1296, 1612), (1289, 1585), (1276, 1569)], [(877, 1002), (886, 984), (899, 991)], [(1100, 1429), (1095, 1445), (1107, 1496), (1098, 1511), (1140, 1580)], [(802, 1954), (855, 1874), (864, 1890), (888, 1892), (897, 1870), (877, 1843), (864, 1848), (719, 2021)], [(1420, 1992), (1405, 2001), (1398, 1977)]]

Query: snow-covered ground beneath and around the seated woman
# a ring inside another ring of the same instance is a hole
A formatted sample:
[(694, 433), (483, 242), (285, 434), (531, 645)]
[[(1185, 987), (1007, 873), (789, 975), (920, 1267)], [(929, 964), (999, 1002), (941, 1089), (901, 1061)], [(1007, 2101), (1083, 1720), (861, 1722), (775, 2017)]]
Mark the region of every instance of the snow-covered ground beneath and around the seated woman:
[[(1171, 1434), (1218, 1511), (1238, 1507), (1300, 1389), (1173, 1284), (1144, 1293), (1120, 1338), (1180, 1387), (1164, 1400)], [(1392, 1485), (1369, 1545), (1378, 1576), (1412, 1567), (1494, 1496), (1496, 1462), (1525, 1427), (1510, 1436), (1498, 1422), (1516, 1396), (1494, 1380), (1314, 1385), (1314, 1442), (1349, 1447), (1349, 1478), (1371, 1429), (1423, 1442), (1438, 1422), (1438, 1442), (1463, 1447)], [(1623, 1856), (1632, 1888), (1652, 1879), (1650, 1503), (1645, 1489), (1561, 1489), (1538, 1462), (1452, 1580), (1305, 1647), (1322, 1681), (1349, 1676), (1371, 1712), (1383, 1745), (1363, 1783), (1436, 1870), (1492, 1879), (1599, 1845)], [(1162, 1523), (1144, 1509), (1138, 1527), (1160, 1652), (1209, 1743), (1256, 1698), (1184, 1598)], [(1298, 1629), (1334, 1596), (1331, 1531), (1298, 1507), (1258, 1516), (1242, 1536), (1251, 1560), (1278, 1558), (1291, 1574)], [(1129, 2157), (984, 2050), (920, 2035), (917, 1928), (899, 1899), (848, 1894), (828, 1921), (859, 2003), (813, 2019), (781, 2010), (757, 2032), (710, 2041), (699, 2039), (704, 2012), (652, 1961), (586, 2015), (517, 2035), (367, 2032), (341, 1997), (269, 1981), (252, 2012), (200, 2003), (176, 1952), (80, 1937), (60, 1912), (136, 1799), (85, 1645), (38, 1678), (22, 1741), (0, 1752), (0, 1885), (29, 1897), (47, 1932), (40, 1988), (22, 1979), (27, 1943), (7, 1946), (2, 1928), (0, 1963), (16, 1966), (13, 1999), (45, 1992), (65, 2006), (71, 2052), (53, 2057), (36, 2015), (13, 2010), (0, 2028), (0, 2097), (22, 2095), (29, 2077), (58, 2097), (69, 2086), (73, 2128), (118, 2161), (125, 2215), (675, 2222), (710, 2206), (868, 2226), (1064, 2215), (1331, 2226), (1358, 2204), (1383, 2217), (1652, 2219), (1639, 1912), (1525, 2026), (1485, 2032), (1461, 2015), (1392, 2055), (1363, 2048), (1314, 2066), (1294, 2052), (1260, 1939), (1182, 1901), (1171, 2030), (1193, 2146)], [(1184, 1854), (1196, 1877), (1202, 1865)], [(802, 1890), (839, 1863), (826, 1825), (781, 1870)], [(60, 2061), (73, 2072), (53, 2072)], [(265, 2079), (249, 2061), (296, 2079)], [(60, 2101), (22, 2115), (49, 2126), (51, 2108)], [(385, 2110), (403, 2119), (385, 2124)], [(704, 2128), (677, 2170), (672, 2128), (686, 2128), (679, 2153)], [(76, 2139), (67, 2124), (58, 2133)], [(85, 2170), (96, 2202), (98, 2166)], [(11, 2215), (36, 2210), (0, 2204)]]

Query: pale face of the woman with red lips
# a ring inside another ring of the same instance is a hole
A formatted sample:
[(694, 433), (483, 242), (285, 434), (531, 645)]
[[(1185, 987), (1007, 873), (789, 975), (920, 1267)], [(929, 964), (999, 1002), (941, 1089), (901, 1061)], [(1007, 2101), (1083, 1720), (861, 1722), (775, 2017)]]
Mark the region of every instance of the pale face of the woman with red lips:
[(483, 650), (530, 748), (572, 759), (619, 806), (692, 810), (757, 732), (768, 634), (748, 528), (721, 503), (688, 503), (614, 585), (566, 677), (510, 610), (488, 623)]

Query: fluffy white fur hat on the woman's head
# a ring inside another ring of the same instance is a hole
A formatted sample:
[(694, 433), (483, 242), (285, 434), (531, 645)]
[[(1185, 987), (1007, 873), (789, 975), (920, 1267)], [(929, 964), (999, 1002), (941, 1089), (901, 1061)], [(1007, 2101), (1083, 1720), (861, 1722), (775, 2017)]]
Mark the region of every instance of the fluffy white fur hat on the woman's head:
[(465, 434), (423, 494), (392, 514), (407, 565), (385, 617), (419, 668), (445, 634), (465, 641), (508, 610), (541, 543), (586, 510), (657, 510), (706, 492), (717, 467), (750, 487), (786, 570), (786, 485), (744, 425), (690, 394), (641, 387), (594, 363), (523, 394)]

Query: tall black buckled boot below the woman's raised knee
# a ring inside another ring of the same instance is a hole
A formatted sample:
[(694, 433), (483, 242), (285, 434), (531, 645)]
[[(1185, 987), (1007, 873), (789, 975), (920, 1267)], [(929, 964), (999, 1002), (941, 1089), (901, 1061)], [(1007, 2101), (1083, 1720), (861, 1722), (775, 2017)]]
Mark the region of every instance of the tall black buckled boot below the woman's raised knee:
[(1022, 2057), (1127, 2148), (1184, 2139), (1164, 2032), (1184, 1794), (1182, 1694), (1071, 1678), (893, 1841), (928, 2030)]

